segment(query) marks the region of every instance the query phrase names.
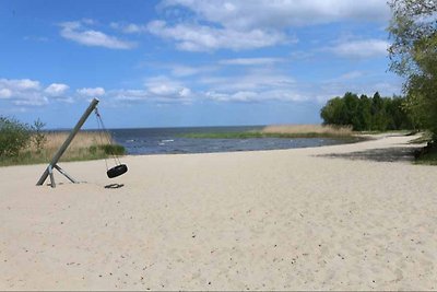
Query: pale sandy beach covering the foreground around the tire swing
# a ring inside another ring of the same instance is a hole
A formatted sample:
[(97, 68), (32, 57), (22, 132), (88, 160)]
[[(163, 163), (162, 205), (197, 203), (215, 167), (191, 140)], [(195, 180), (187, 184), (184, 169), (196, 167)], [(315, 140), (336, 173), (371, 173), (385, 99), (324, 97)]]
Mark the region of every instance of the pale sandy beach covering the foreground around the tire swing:
[(409, 139), (0, 167), (0, 289), (436, 290), (437, 167), (315, 156)]

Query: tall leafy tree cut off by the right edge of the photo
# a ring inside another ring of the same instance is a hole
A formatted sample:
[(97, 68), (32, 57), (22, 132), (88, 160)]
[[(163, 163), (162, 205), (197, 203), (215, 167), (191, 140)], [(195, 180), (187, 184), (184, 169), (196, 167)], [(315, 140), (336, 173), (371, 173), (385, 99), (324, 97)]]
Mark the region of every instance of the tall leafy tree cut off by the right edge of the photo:
[(404, 77), (406, 101), (414, 122), (437, 138), (437, 2), (436, 0), (391, 0), (389, 26), (390, 69)]

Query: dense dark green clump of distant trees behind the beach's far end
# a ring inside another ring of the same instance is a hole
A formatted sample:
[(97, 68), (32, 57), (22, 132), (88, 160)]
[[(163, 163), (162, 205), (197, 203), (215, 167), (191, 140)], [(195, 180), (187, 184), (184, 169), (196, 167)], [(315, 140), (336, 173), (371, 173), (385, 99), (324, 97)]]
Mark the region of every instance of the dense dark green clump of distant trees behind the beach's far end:
[(328, 101), (320, 110), (326, 125), (352, 126), (355, 131), (386, 131), (415, 128), (403, 110), (404, 97), (373, 97), (347, 92)]

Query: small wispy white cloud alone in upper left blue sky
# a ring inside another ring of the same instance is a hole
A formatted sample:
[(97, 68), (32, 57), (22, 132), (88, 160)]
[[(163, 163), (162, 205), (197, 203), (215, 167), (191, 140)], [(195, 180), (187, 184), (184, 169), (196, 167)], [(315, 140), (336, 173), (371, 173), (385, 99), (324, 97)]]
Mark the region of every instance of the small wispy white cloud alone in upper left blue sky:
[(135, 47), (135, 44), (118, 39), (115, 36), (106, 35), (98, 31), (93, 31), (84, 27), (83, 24), (93, 24), (90, 21), (86, 22), (64, 22), (61, 23), (61, 36), (76, 42), (85, 46), (105, 47), (110, 49), (131, 49)]

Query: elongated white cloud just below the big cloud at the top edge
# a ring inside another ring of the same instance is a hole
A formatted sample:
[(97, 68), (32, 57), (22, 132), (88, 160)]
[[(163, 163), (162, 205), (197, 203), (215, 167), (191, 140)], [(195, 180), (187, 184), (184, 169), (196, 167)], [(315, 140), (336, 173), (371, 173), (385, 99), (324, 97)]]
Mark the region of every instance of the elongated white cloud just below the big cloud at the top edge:
[(176, 40), (179, 49), (188, 51), (243, 50), (286, 42), (284, 34), (265, 30), (236, 31), (192, 24), (170, 26), (164, 21), (153, 21), (149, 23), (147, 28), (154, 35)]

